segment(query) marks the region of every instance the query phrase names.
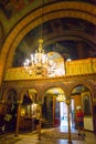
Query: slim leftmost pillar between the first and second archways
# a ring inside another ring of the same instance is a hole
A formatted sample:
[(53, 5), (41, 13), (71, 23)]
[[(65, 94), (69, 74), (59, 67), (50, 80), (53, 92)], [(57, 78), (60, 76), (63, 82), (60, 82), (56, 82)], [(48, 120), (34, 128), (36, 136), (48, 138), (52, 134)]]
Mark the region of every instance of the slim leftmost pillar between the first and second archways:
[(17, 112), (17, 128), (15, 128), (15, 136), (19, 135), (19, 124), (20, 124), (20, 112), (21, 112), (21, 101), (18, 101), (18, 112)]

